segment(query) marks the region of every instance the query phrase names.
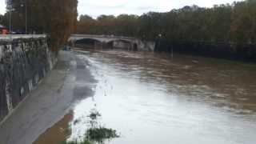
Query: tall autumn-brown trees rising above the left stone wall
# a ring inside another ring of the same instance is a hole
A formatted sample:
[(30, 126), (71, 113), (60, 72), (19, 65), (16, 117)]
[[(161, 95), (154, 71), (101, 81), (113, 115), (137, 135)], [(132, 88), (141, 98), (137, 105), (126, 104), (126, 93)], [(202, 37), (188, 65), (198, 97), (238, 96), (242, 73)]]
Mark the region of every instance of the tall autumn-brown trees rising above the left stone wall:
[[(66, 43), (76, 29), (77, 0), (7, 0), (6, 14), (0, 23), (11, 27), (17, 33), (48, 34), (52, 50)], [(27, 22), (26, 22), (27, 18)]]

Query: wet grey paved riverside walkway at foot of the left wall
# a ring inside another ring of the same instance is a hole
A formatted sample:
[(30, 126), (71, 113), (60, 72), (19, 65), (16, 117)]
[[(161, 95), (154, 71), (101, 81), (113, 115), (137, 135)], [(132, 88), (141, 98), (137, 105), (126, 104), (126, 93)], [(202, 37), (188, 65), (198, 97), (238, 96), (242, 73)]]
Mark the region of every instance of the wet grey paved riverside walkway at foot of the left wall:
[(90, 97), (93, 94), (91, 84), (95, 81), (86, 65), (88, 63), (72, 52), (60, 51), (54, 69), (0, 126), (0, 142), (34, 142), (69, 112), (77, 98), (85, 95)]

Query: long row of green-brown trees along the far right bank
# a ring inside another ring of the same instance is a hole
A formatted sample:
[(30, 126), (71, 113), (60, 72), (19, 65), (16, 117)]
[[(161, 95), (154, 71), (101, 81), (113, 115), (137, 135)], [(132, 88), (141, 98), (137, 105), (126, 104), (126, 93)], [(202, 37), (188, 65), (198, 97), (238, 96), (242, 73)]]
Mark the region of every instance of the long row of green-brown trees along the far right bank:
[(166, 13), (149, 12), (97, 19), (82, 15), (79, 34), (115, 34), (166, 41), (256, 43), (256, 1), (246, 0), (212, 8), (184, 6)]

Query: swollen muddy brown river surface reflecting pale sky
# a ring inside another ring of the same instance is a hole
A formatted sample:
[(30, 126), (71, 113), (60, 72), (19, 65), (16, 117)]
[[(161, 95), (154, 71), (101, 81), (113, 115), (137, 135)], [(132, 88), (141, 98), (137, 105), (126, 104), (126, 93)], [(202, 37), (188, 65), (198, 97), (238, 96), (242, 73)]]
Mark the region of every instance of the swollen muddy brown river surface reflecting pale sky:
[(121, 136), (106, 144), (256, 142), (255, 65), (124, 50), (77, 55), (89, 61), (98, 81), (94, 97), (75, 102), (72, 112), (35, 143), (66, 127), (70, 131), (63, 138), (82, 138), (91, 110), (102, 115), (102, 126)]

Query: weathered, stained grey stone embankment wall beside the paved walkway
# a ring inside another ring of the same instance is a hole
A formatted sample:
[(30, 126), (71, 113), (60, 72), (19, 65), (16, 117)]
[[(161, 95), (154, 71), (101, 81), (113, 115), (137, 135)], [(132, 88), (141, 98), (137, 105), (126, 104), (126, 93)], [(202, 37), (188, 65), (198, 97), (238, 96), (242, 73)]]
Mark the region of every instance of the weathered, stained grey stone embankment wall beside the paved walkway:
[(56, 62), (46, 38), (0, 41), (0, 122)]

